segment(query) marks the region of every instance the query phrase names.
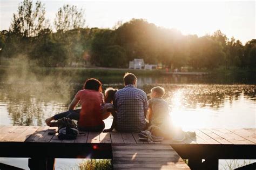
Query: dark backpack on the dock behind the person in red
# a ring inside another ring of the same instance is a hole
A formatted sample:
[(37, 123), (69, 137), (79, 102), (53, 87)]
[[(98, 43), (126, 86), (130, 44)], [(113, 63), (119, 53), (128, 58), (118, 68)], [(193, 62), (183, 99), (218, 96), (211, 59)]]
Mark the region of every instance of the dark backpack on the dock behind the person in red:
[(76, 139), (78, 134), (77, 125), (70, 118), (58, 120), (58, 138), (59, 139)]

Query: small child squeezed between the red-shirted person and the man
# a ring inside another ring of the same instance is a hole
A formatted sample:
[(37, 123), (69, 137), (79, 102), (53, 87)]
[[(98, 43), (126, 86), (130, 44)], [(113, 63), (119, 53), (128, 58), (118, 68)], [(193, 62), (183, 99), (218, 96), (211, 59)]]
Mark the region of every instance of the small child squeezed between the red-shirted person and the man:
[(102, 117), (103, 120), (108, 118), (110, 114), (113, 116), (113, 123), (109, 129), (105, 129), (103, 132), (111, 132), (116, 124), (116, 112), (114, 111), (113, 101), (114, 94), (117, 92), (117, 89), (113, 89), (112, 87), (108, 87), (105, 90), (105, 103), (102, 105)]

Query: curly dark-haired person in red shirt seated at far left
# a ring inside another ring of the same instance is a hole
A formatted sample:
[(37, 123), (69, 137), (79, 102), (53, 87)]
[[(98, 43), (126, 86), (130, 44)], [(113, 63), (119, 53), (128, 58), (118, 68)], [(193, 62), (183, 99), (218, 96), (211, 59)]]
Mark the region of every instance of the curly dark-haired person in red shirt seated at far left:
[[(80, 102), (81, 109), (74, 110)], [(105, 128), (102, 116), (103, 93), (102, 83), (95, 78), (90, 78), (85, 81), (83, 90), (77, 92), (72, 100), (69, 111), (55, 114), (45, 120), (48, 126), (58, 126), (58, 120), (62, 118), (70, 118), (78, 120), (77, 127), (80, 131), (102, 131)]]

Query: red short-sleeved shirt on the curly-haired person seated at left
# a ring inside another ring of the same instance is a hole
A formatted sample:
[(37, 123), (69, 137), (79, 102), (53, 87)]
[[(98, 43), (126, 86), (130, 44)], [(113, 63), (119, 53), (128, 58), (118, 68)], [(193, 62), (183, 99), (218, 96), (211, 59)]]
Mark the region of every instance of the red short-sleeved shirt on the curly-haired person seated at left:
[(103, 93), (95, 90), (80, 90), (75, 98), (80, 100), (82, 109), (78, 120), (79, 127), (103, 125), (101, 105)]

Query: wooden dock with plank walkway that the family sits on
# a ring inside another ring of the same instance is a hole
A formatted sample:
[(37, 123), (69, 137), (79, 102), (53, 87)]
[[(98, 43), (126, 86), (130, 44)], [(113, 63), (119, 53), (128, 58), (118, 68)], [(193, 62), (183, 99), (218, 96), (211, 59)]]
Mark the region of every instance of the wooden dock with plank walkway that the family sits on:
[(0, 157), (32, 158), (31, 169), (39, 164), (49, 169), (54, 158), (113, 159), (114, 169), (218, 169), (218, 159), (256, 159), (255, 128), (198, 129), (196, 137), (183, 142), (144, 142), (138, 133), (120, 132), (84, 132), (74, 140), (59, 140), (48, 134), (53, 131), (0, 126)]

